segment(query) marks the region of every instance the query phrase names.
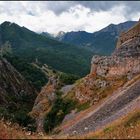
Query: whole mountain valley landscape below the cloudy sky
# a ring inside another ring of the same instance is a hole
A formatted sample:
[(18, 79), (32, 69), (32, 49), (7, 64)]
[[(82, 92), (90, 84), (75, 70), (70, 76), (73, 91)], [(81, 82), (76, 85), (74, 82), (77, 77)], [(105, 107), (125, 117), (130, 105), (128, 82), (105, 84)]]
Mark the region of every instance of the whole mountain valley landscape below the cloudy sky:
[(59, 35), (0, 25), (0, 138), (128, 138), (140, 127), (140, 21)]

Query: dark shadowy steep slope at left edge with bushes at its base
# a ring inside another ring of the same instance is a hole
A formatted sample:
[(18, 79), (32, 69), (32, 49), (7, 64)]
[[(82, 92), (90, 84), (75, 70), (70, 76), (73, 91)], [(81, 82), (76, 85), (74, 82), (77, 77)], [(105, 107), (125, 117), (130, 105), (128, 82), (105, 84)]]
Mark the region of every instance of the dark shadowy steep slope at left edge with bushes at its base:
[(28, 113), (36, 96), (35, 88), (6, 59), (0, 58), (0, 118), (35, 130)]

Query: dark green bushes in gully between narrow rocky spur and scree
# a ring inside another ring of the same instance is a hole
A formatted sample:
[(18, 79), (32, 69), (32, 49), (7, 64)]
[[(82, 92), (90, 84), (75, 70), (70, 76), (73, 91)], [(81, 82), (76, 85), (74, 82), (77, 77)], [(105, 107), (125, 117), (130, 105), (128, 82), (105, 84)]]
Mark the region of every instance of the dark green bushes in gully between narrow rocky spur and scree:
[(53, 128), (58, 126), (65, 115), (70, 113), (75, 107), (75, 102), (72, 100), (65, 100), (60, 97), (55, 101), (51, 111), (46, 115), (44, 129), (46, 132), (51, 132)]

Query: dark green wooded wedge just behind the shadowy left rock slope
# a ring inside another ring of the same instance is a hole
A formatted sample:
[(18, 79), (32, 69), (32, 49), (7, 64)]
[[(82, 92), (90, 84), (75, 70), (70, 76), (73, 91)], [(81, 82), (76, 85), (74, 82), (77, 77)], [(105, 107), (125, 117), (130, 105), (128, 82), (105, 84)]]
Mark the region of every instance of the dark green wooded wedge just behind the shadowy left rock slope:
[(6, 55), (6, 58), (37, 90), (48, 82), (46, 75), (27, 60), (12, 55)]

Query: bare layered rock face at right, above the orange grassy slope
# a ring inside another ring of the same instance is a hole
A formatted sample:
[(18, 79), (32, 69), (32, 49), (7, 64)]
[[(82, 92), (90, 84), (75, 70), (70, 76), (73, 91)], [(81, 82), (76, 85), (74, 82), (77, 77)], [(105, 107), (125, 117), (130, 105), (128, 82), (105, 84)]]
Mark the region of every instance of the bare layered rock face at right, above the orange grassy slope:
[(140, 73), (140, 22), (121, 34), (112, 56), (94, 56), (90, 74), (118, 77)]

